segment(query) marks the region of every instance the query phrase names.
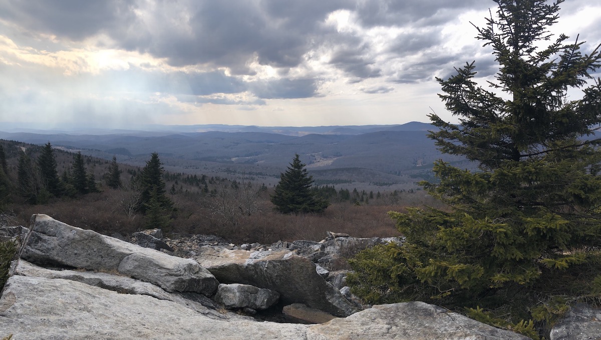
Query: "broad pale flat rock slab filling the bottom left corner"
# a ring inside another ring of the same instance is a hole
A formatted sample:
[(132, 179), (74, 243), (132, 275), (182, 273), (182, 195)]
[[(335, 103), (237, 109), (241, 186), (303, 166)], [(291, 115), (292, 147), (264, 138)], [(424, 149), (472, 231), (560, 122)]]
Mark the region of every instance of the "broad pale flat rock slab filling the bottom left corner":
[(216, 320), (168, 300), (65, 279), (12, 276), (0, 299), (0, 335), (18, 340), (305, 339), (307, 326)]

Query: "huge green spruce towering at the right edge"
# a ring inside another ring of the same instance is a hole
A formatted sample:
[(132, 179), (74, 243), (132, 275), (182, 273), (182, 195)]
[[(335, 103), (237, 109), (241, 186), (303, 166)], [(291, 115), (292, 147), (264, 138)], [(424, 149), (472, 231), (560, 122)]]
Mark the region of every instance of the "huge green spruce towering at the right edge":
[(541, 319), (534, 305), (554, 294), (600, 297), (601, 79), (581, 100), (567, 97), (600, 67), (599, 46), (582, 55), (578, 38), (560, 35), (540, 47), (562, 0), (495, 2), (496, 17), (478, 29), (499, 63), (492, 89), (475, 82), (468, 63), (438, 79), (460, 125), (430, 115), (440, 150), (480, 169), (436, 162), (440, 183), (422, 184), (450, 210), (391, 214), (406, 242), (362, 253), (349, 278), (371, 302), (505, 305), (523, 312), (511, 317)]

